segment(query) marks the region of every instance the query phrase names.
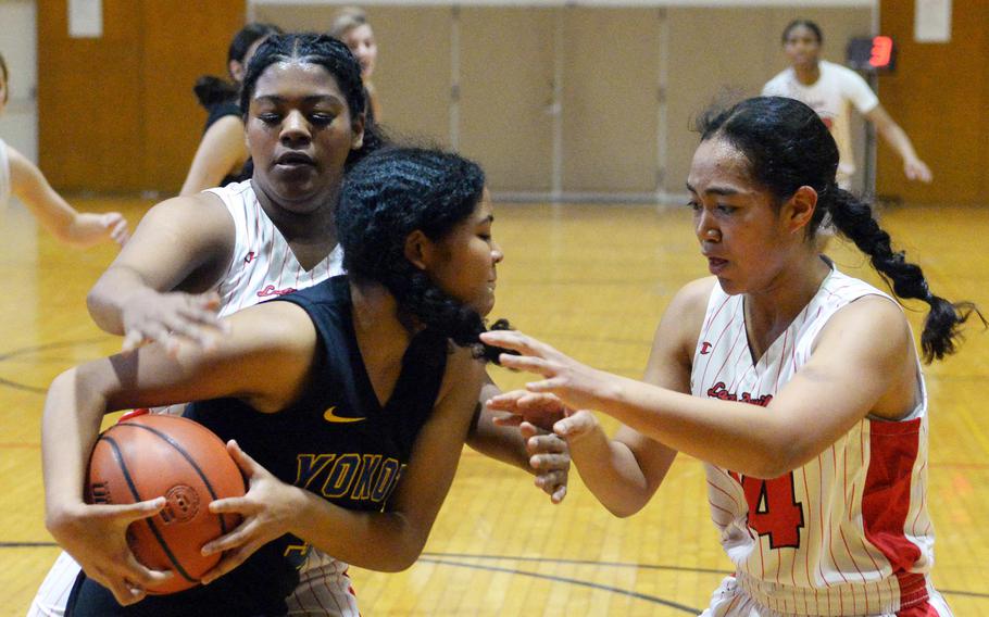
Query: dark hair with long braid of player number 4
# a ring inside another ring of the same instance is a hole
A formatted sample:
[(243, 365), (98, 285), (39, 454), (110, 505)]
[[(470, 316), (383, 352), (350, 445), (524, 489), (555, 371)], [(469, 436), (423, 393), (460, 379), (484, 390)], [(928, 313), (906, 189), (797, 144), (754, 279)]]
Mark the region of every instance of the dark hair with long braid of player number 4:
[(749, 162), (752, 179), (767, 189), (777, 207), (803, 186), (817, 192), (817, 207), (808, 226), (813, 239), (826, 214), (838, 231), (868, 255), (893, 293), (930, 305), (921, 333), (925, 362), (954, 353), (960, 327), (972, 313), (986, 323), (972, 302), (952, 304), (927, 287), (921, 266), (893, 251), (890, 237), (876, 222), (873, 209), (838, 187), (838, 147), (827, 127), (808, 105), (783, 97), (758, 97), (728, 110), (708, 112), (698, 123), (701, 140), (724, 139)]

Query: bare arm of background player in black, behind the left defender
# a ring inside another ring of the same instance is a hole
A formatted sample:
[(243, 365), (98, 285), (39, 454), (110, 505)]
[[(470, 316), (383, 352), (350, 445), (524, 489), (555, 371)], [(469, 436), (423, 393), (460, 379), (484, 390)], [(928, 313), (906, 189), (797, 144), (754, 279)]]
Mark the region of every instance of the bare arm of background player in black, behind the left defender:
[(227, 115), (214, 122), (202, 136), (179, 196), (218, 187), (223, 178), (243, 167), (248, 159), (243, 121)]

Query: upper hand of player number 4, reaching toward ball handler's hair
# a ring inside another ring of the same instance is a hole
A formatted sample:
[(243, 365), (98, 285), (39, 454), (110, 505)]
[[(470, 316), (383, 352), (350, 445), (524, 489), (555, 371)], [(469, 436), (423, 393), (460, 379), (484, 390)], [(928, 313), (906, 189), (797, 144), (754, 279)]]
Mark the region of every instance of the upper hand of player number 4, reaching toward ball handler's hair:
[(546, 377), (526, 383), (529, 392), (552, 393), (572, 410), (599, 408), (599, 394), (610, 386), (609, 375), (580, 364), (552, 347), (515, 330), (484, 332), (480, 339), (489, 345), (517, 351), (521, 355), (501, 354), (501, 365)]

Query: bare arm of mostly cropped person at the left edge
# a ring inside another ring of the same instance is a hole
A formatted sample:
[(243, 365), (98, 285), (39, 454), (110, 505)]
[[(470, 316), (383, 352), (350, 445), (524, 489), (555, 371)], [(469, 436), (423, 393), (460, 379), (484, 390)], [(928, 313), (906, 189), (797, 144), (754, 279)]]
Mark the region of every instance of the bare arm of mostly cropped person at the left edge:
[(123, 244), (129, 238), (127, 221), (120, 212), (80, 213), (57, 193), (41, 171), (8, 147), (12, 192), (38, 223), (60, 241), (85, 249), (107, 240)]

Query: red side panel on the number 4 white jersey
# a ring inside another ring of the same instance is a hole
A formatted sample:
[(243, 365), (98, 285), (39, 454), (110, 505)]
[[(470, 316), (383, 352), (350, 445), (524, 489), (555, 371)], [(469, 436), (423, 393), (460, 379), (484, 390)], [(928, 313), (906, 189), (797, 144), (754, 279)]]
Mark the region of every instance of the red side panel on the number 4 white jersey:
[(921, 420), (869, 421), (869, 462), (862, 495), (863, 531), (889, 561), (900, 583), (901, 607), (927, 603), (926, 577), (910, 571), (921, 558), (921, 549), (904, 533)]

